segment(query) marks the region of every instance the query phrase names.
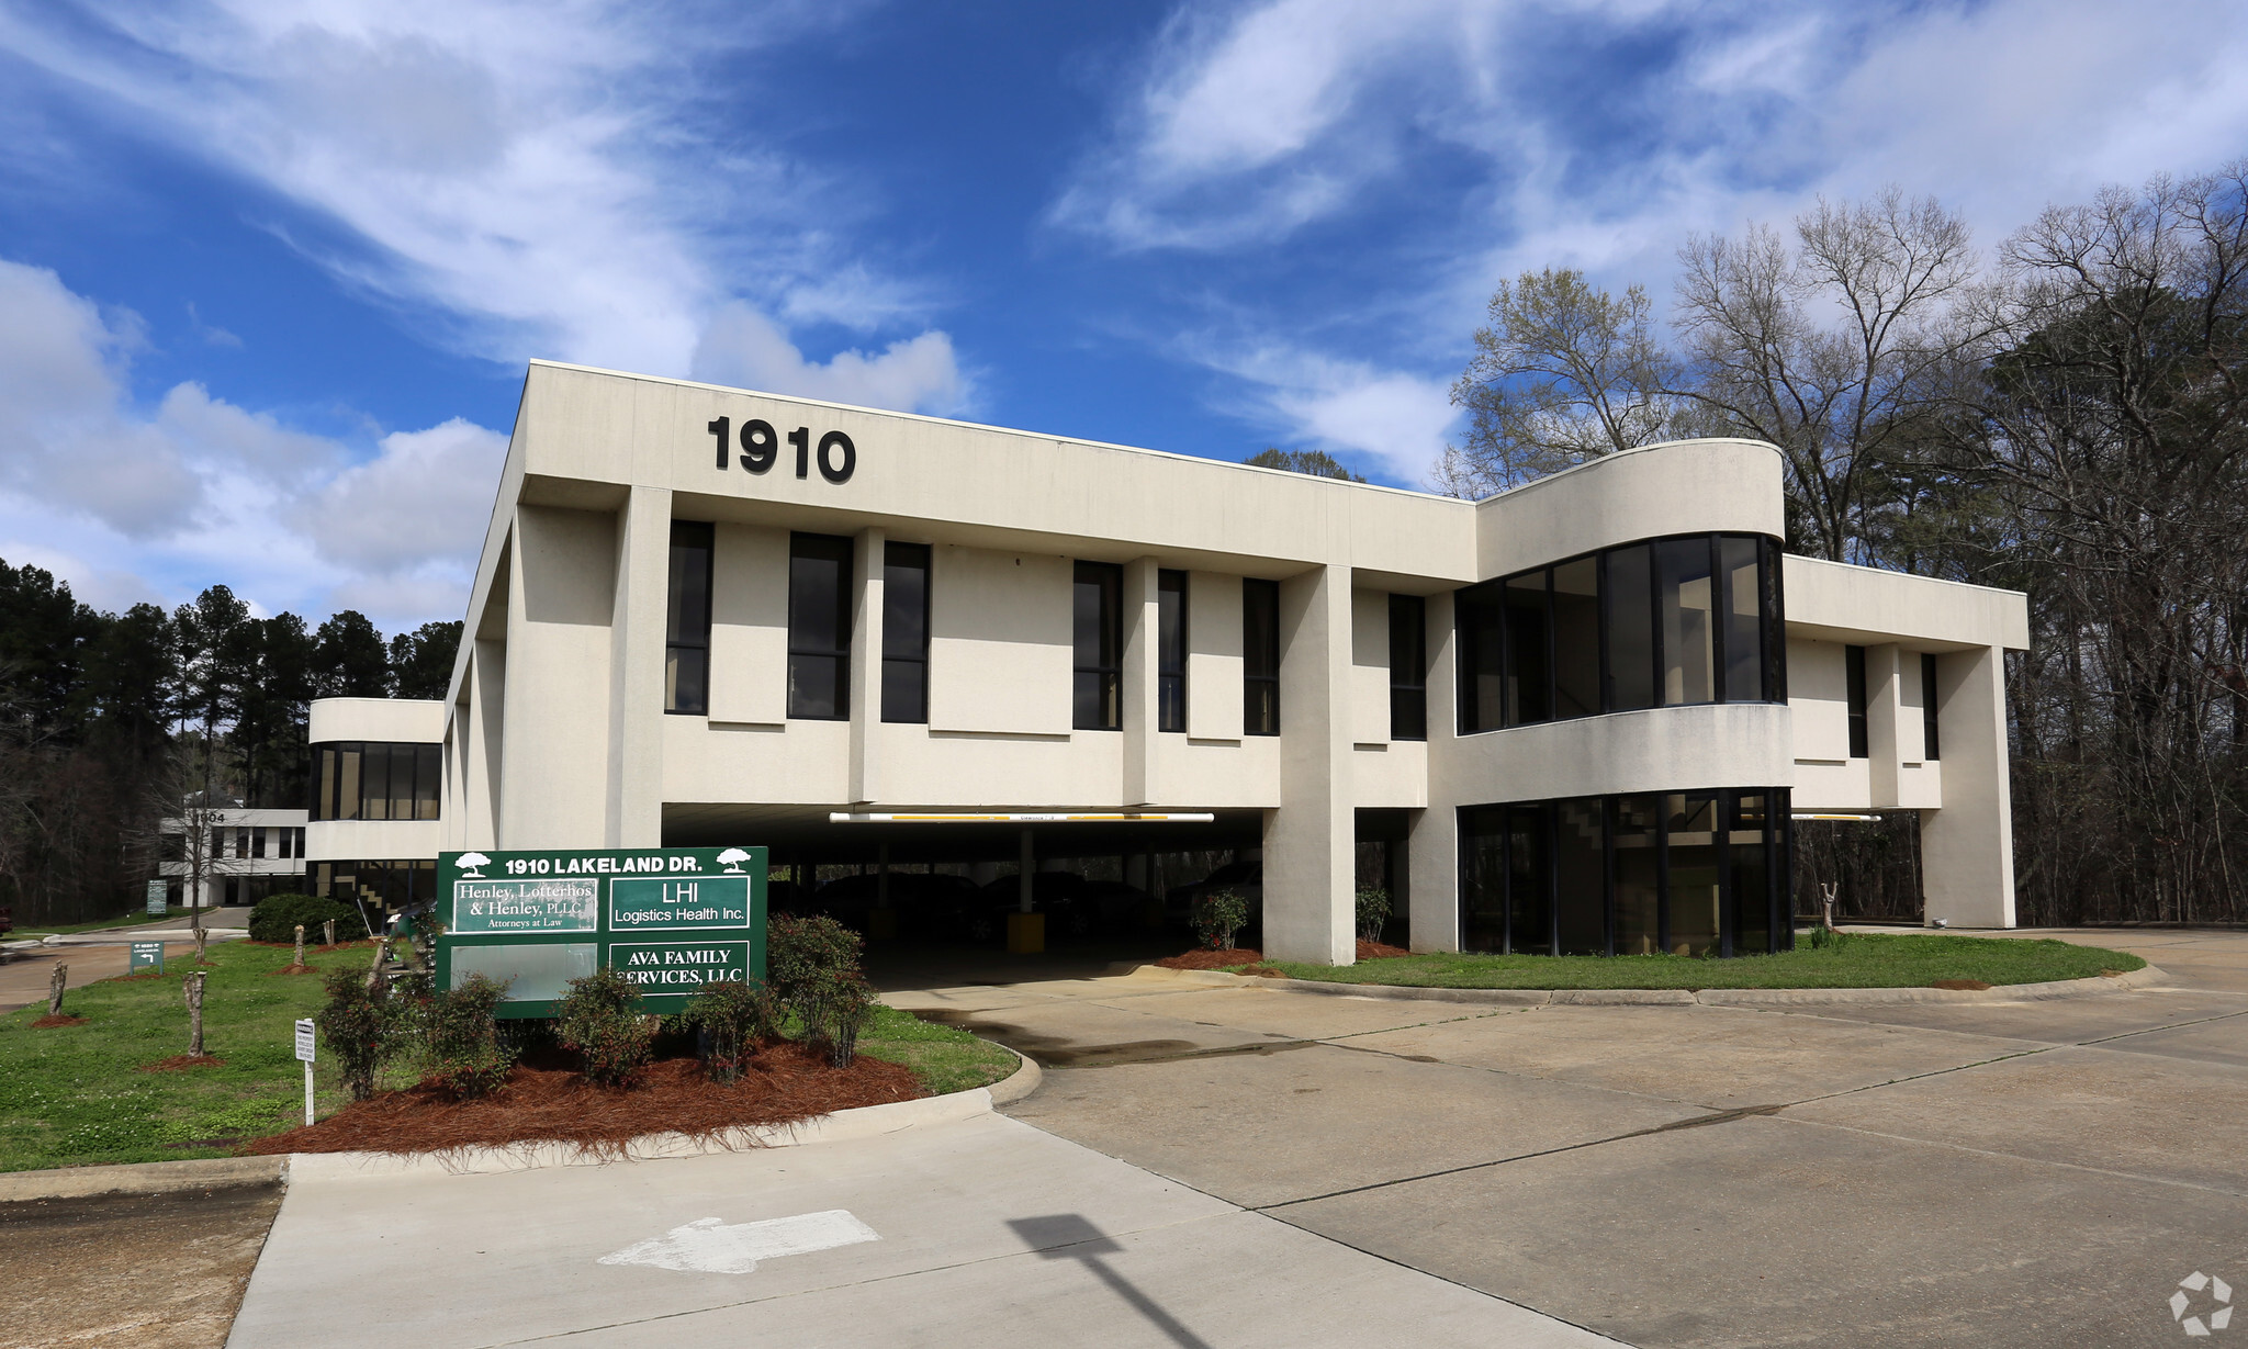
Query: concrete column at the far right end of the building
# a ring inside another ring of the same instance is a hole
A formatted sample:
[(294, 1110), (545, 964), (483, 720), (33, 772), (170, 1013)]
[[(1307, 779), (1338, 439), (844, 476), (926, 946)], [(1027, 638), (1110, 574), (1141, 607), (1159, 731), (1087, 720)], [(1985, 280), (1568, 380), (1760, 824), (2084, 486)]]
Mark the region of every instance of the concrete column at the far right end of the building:
[(1936, 717), (1945, 805), (1920, 814), (1927, 917), (1951, 926), (2014, 926), (2014, 798), (1998, 648), (1936, 659)]

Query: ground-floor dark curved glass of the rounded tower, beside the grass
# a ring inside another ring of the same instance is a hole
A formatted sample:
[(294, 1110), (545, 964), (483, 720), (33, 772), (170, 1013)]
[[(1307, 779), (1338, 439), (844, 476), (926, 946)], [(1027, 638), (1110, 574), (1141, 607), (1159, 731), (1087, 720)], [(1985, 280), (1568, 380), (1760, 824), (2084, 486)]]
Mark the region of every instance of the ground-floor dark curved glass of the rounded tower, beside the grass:
[(1794, 942), (1787, 789), (1459, 807), (1459, 947), (1762, 956)]

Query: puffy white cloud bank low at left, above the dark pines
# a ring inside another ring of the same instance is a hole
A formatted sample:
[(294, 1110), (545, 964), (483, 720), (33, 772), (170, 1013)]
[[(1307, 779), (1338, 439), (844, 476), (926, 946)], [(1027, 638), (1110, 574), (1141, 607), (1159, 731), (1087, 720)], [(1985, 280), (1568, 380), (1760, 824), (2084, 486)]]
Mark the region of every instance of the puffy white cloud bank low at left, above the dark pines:
[(261, 614), (360, 607), (398, 627), (468, 605), (506, 436), (465, 420), (373, 454), (175, 384), (135, 407), (137, 319), (0, 261), (0, 558), (88, 603), (225, 582)]

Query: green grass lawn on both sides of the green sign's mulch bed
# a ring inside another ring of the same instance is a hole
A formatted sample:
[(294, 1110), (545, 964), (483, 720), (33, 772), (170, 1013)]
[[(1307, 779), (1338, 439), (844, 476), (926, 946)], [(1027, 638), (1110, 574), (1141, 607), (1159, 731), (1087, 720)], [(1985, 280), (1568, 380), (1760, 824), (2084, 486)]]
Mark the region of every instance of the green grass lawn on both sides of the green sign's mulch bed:
[[(70, 989), (63, 1012), (83, 1016), (83, 1025), (31, 1030), (45, 1001), (0, 1016), (0, 1171), (220, 1158), (303, 1122), (292, 1023), (326, 998), (317, 974), (274, 974), (290, 956), (288, 947), (250, 942), (211, 947), (202, 1039), (225, 1061), (218, 1068), (142, 1072), (144, 1063), (187, 1052), (187, 960), (157, 978)], [(319, 969), (366, 969), (371, 958), (364, 942), (308, 953)], [(888, 1007), (861, 1032), (859, 1050), (913, 1068), (933, 1093), (985, 1086), (1016, 1068), (998, 1045)], [(400, 1068), (387, 1084), (409, 1081), (411, 1070)], [(317, 1066), (315, 1084), (319, 1115), (348, 1102), (330, 1066)]]

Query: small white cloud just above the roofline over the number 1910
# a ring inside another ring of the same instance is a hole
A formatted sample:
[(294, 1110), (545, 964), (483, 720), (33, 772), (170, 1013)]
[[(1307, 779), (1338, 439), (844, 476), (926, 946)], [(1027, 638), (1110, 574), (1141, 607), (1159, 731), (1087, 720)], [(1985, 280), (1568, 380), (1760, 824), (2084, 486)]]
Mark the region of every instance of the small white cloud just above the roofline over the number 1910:
[(746, 304), (726, 306), (710, 319), (695, 348), (692, 375), (710, 384), (870, 407), (958, 411), (967, 402), (967, 380), (944, 333), (892, 342), (879, 355), (843, 351), (816, 364)]

